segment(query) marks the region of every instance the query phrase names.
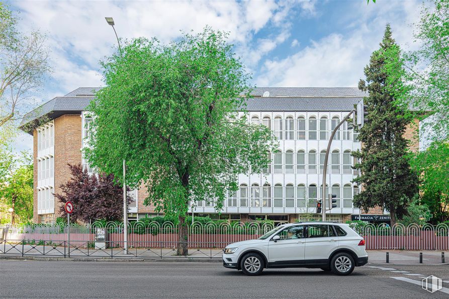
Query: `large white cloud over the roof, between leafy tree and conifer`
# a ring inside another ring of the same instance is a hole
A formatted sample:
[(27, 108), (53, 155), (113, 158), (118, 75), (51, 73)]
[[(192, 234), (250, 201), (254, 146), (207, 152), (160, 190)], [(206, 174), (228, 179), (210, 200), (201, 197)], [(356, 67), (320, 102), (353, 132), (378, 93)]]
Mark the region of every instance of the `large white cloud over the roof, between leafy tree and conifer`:
[[(310, 45), (286, 58), (265, 60), (256, 77), (257, 85), (355, 87), (364, 78), (364, 67), (371, 53), (379, 48), (387, 23), (391, 23), (393, 37), (399, 44), (412, 40), (411, 24), (419, 17), (418, 2), (378, 3), (374, 9), (367, 9), (366, 3), (356, 7), (354, 11), (360, 11), (361, 17), (353, 23), (344, 23), (349, 20), (344, 16), (339, 24), (347, 26), (347, 33), (332, 33), (312, 40)], [(400, 15), (403, 17), (398, 18)], [(353, 16), (349, 16), (352, 20)]]

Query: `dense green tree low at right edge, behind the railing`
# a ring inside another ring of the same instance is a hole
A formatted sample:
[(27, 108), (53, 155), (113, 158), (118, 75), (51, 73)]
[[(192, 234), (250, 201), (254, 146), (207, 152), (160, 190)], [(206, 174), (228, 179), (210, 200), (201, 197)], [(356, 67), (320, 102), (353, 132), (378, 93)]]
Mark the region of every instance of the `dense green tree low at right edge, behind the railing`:
[(420, 176), (420, 201), (433, 214), (431, 221), (449, 220), (449, 143), (433, 142), (410, 165)]

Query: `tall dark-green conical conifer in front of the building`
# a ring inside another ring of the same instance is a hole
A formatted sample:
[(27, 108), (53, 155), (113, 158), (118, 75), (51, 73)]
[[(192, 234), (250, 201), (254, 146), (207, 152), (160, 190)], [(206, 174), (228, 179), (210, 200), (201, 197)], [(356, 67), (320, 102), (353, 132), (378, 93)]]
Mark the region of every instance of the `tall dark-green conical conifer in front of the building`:
[(384, 53), (394, 45), (387, 25), (380, 49), (373, 52), (365, 67), (366, 81), (359, 82), (359, 88), (369, 92), (364, 103), (370, 122), (358, 135), (362, 150), (353, 152), (361, 161), (355, 164), (361, 174), (354, 182), (363, 184), (362, 191), (354, 196), (354, 206), (366, 212), (376, 206), (385, 207), (393, 225), (407, 213), (410, 198), (417, 192), (417, 176), (410, 170), (408, 141), (403, 137), (410, 118), (403, 109), (397, 109), (393, 94), (387, 90)]

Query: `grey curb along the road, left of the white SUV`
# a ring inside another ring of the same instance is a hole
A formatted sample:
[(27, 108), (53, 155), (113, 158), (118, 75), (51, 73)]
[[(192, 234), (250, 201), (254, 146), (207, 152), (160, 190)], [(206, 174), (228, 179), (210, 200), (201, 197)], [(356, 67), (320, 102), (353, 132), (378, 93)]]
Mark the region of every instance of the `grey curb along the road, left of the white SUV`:
[(57, 261), (57, 262), (176, 262), (176, 263), (222, 263), (222, 259), (210, 258), (61, 258), (61, 257), (38, 257), (38, 256), (0, 256), (0, 260), (20, 260), (20, 261)]

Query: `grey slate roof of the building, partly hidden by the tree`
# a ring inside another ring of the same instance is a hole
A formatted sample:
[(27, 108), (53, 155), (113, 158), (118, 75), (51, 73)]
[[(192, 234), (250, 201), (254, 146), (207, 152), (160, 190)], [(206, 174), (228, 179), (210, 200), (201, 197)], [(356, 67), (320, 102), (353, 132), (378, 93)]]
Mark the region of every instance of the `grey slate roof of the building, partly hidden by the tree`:
[[(78, 87), (57, 96), (23, 118), (20, 129), (32, 134), (32, 126), (43, 116), (50, 120), (64, 114), (80, 114), (95, 99), (101, 87)], [(246, 101), (248, 111), (350, 111), (365, 92), (356, 87), (256, 87)]]

